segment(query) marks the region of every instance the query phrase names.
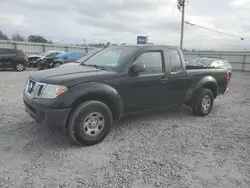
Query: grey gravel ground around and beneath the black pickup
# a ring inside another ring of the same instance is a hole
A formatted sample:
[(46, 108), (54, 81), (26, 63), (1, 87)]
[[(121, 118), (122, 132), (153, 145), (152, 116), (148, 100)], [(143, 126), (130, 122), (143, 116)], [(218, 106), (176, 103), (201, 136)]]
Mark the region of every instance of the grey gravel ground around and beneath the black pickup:
[(250, 73), (234, 73), (207, 117), (184, 106), (131, 116), (78, 147), (25, 113), (30, 71), (0, 72), (0, 187), (250, 187)]

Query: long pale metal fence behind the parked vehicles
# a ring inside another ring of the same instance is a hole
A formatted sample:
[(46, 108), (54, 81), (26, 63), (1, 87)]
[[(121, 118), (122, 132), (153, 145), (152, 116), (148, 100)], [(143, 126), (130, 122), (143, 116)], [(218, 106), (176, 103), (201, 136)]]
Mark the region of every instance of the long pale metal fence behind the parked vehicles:
[[(22, 50), (27, 55), (40, 54), (51, 50), (88, 53), (89, 51), (96, 49), (88, 46), (13, 42), (3, 40), (0, 40), (0, 48), (16, 48)], [(223, 58), (230, 62), (234, 70), (250, 71), (250, 52), (248, 51), (184, 51), (183, 53), (185, 60), (202, 56)]]

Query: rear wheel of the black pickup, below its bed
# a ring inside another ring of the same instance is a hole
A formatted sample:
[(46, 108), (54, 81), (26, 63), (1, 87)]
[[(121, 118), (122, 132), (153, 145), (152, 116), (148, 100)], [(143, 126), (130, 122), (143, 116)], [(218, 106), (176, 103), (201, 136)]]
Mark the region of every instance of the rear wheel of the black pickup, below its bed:
[(193, 102), (193, 113), (196, 116), (208, 115), (214, 104), (214, 96), (211, 90), (202, 88), (195, 95)]

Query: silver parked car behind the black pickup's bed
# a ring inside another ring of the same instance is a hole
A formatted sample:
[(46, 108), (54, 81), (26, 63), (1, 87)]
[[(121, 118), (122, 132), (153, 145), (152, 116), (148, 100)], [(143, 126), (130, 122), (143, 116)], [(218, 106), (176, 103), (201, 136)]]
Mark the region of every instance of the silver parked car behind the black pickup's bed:
[(232, 66), (230, 63), (224, 59), (216, 58), (216, 57), (200, 57), (191, 59), (187, 62), (187, 66), (196, 66), (196, 67), (217, 67), (224, 68), (230, 73), (230, 77), (232, 75)]

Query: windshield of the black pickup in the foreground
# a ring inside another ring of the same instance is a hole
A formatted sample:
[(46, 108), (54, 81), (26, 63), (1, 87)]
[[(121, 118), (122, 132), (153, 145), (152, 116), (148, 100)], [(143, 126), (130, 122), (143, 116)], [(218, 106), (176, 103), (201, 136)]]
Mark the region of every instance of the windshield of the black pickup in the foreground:
[(109, 47), (96, 53), (82, 65), (115, 69), (131, 58), (137, 47)]

